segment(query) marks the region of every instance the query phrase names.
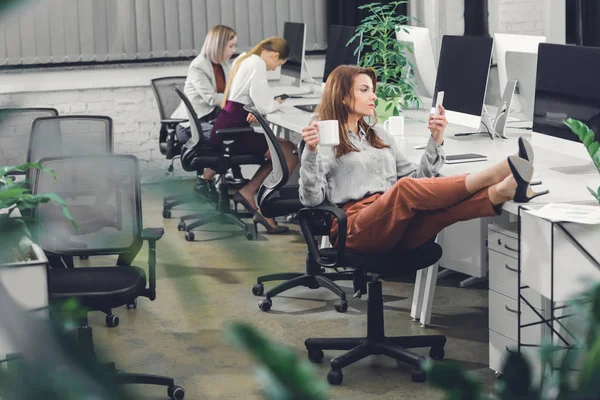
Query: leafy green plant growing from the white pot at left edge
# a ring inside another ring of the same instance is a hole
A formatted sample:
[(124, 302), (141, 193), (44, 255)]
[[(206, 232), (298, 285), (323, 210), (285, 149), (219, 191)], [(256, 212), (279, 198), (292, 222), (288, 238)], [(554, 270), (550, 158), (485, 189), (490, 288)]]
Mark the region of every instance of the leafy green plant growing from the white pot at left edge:
[[(33, 219), (24, 217), (27, 211), (37, 207), (39, 204), (54, 202), (62, 207), (64, 216), (71, 221), (75, 229), (77, 223), (73, 220), (65, 202), (56, 193), (31, 194), (28, 181), (15, 181), (9, 174), (15, 172), (27, 172), (30, 169), (39, 169), (41, 172), (52, 174), (54, 171), (43, 168), (39, 163), (25, 163), (15, 167), (0, 167), (0, 209), (6, 213), (0, 214), (0, 262), (18, 261), (27, 254), (23, 254), (19, 246), (24, 237), (31, 238), (28, 223), (34, 223)], [(15, 215), (16, 212), (20, 215)]]

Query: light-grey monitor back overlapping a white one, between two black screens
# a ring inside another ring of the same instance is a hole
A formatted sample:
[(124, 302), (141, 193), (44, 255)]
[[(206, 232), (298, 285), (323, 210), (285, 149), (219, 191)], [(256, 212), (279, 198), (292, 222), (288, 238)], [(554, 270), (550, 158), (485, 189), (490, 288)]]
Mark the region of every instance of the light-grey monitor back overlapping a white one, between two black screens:
[(506, 52), (506, 77), (517, 82), (513, 110), (521, 112), (527, 121), (533, 121), (536, 72), (537, 49), (535, 53)]

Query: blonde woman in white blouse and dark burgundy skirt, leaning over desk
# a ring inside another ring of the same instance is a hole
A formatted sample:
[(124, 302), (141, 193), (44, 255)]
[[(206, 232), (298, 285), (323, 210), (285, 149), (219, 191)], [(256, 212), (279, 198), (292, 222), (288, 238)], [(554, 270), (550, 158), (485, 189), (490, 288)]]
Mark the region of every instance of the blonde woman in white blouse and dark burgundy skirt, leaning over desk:
[[(246, 104), (253, 104), (262, 114), (268, 114), (281, 108), (283, 100), (273, 100), (269, 95), (267, 71), (273, 71), (283, 65), (289, 55), (290, 50), (285, 39), (270, 37), (236, 60), (227, 82), (224, 100), (221, 103), (222, 111), (211, 132), (211, 142), (215, 146), (222, 143), (216, 134), (219, 129), (250, 125), (252, 119), (244, 110)], [(298, 157), (294, 155), (294, 145), (284, 139), (280, 139), (280, 143), (291, 175), (298, 163)], [(229, 148), (232, 154), (259, 154), (268, 159), (271, 158), (267, 141), (262, 133), (248, 133), (236, 139)], [(265, 218), (254, 200), (258, 188), (271, 170), (271, 163), (262, 165), (250, 182), (233, 196), (233, 199), (243, 204), (249, 212), (254, 213), (252, 217), (254, 221), (262, 224), (268, 233), (283, 233), (288, 228), (278, 226), (271, 218)]]

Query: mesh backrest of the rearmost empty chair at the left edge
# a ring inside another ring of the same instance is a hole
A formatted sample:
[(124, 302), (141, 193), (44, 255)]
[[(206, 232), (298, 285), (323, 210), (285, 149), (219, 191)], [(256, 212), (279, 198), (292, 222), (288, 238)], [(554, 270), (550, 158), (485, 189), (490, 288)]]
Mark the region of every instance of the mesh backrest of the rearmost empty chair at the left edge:
[(54, 108), (0, 109), (0, 166), (23, 164), (27, 160), (27, 144), (33, 121), (39, 117), (57, 116)]

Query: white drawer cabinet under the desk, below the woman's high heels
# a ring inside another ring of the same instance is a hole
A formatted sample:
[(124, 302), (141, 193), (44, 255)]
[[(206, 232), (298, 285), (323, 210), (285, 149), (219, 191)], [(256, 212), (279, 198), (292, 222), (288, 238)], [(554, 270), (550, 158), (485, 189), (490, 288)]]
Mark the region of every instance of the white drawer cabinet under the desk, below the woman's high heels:
[[(517, 223), (489, 226), (489, 366), (500, 372), (507, 348), (516, 350), (518, 320), (518, 235)], [(530, 293), (529, 293), (530, 292)], [(523, 293), (537, 311), (544, 315), (542, 296), (532, 290)], [(521, 325), (539, 321), (537, 314), (521, 301)], [(522, 344), (540, 344), (544, 335), (541, 324), (521, 329)], [(522, 348), (539, 377), (537, 348)]]

